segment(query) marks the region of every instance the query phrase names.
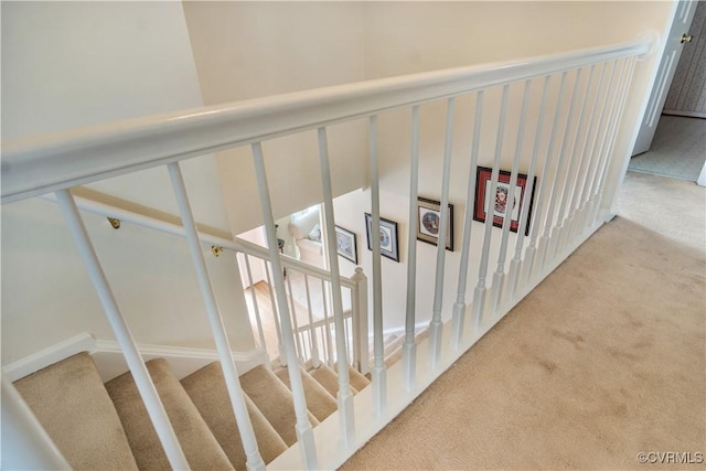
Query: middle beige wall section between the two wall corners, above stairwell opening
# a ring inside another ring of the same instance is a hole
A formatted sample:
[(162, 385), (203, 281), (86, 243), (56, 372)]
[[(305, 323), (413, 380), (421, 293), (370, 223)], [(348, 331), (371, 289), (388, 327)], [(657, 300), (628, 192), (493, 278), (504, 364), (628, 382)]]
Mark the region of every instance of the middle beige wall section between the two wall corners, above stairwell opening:
[[(357, 2), (185, 2), (206, 105), (365, 78), (364, 4)], [(329, 130), (333, 191), (366, 181), (365, 126)], [(315, 131), (264, 146), (275, 217), (321, 201)], [(261, 225), (249, 148), (218, 154), (234, 234)]]

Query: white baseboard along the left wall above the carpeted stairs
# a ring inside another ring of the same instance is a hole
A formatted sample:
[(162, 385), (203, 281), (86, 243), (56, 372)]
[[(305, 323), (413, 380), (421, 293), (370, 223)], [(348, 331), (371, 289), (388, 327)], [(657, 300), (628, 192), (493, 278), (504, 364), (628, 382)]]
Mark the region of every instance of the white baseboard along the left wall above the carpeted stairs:
[[(218, 361), (216, 351), (208, 349), (142, 344), (138, 345), (138, 350), (145, 361), (158, 357), (167, 360), (180, 379), (208, 363)], [(79, 352), (90, 353), (104, 382), (128, 371), (116, 341), (95, 339), (88, 332), (83, 332), (3, 366), (2, 374), (10, 382), (14, 382)], [(268, 363), (267, 354), (256, 347), (246, 352), (233, 352), (233, 360), (239, 374)]]

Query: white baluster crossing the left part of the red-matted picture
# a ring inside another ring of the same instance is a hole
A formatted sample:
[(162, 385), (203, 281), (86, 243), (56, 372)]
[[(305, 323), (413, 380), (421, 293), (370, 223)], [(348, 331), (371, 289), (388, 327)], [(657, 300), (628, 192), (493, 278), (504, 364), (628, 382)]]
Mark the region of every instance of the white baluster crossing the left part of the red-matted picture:
[[(494, 195), (498, 191), (498, 175), (500, 174), (500, 159), (502, 157), (503, 133), (505, 130), (505, 114), (507, 111), (509, 85), (503, 86), (503, 97), (500, 105), (500, 118), (498, 120), (498, 133), (495, 136), (495, 158), (493, 159), (493, 171), (490, 178), (490, 193)], [(483, 226), (483, 248), (481, 250), (481, 263), (478, 269), (478, 285), (473, 292), (473, 328), (480, 332), (483, 324), (483, 312), (485, 310), (485, 278), (488, 277), (488, 260), (490, 258), (490, 242), (493, 237), (493, 204), (486, 202), (485, 225)]]

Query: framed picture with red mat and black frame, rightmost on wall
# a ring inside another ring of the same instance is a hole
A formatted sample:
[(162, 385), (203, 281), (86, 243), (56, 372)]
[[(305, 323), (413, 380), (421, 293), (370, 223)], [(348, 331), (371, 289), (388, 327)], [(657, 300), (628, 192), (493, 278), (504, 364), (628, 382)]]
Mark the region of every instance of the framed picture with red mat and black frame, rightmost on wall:
[(532, 202), (534, 201), (534, 189), (537, 186), (535, 176), (535, 184), (533, 185), (532, 194), (527, 201), (526, 188), (527, 175), (522, 173), (517, 174), (517, 182), (515, 188), (510, 188), (510, 172), (501, 170), (498, 175), (498, 188), (495, 194), (491, 195), (491, 174), (493, 169), (486, 167), (479, 167), (475, 180), (475, 206), (473, 208), (473, 220), (485, 222), (489, 204), (492, 207), (493, 225), (498, 227), (503, 226), (505, 217), (510, 217), (510, 231), (516, 233), (520, 228), (520, 214), (525, 204), (530, 204), (527, 211), (527, 223), (525, 224), (525, 235), (530, 234), (530, 221), (532, 217)]

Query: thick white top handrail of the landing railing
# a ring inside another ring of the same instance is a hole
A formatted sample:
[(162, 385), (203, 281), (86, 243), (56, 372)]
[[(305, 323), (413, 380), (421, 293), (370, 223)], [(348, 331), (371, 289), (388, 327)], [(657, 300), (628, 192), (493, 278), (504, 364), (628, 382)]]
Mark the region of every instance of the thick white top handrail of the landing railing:
[(2, 144), (8, 203), (383, 110), (646, 53), (649, 42), (457, 67), (157, 115)]

